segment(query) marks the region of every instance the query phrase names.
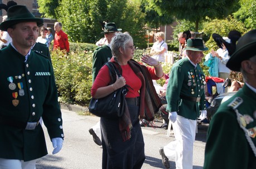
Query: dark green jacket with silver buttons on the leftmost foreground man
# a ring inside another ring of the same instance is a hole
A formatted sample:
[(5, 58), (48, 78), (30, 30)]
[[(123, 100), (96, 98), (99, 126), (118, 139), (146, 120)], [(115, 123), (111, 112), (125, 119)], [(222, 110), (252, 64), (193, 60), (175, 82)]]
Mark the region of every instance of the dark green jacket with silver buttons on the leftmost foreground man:
[[(63, 138), (61, 110), (49, 60), (31, 51), (24, 62), (25, 57), (11, 44), (0, 50), (0, 60), (0, 118), (27, 124), (37, 122), (42, 116), (50, 138)], [(40, 124), (35, 130), (24, 130), (0, 122), (0, 158), (29, 161), (45, 155), (46, 142)]]

